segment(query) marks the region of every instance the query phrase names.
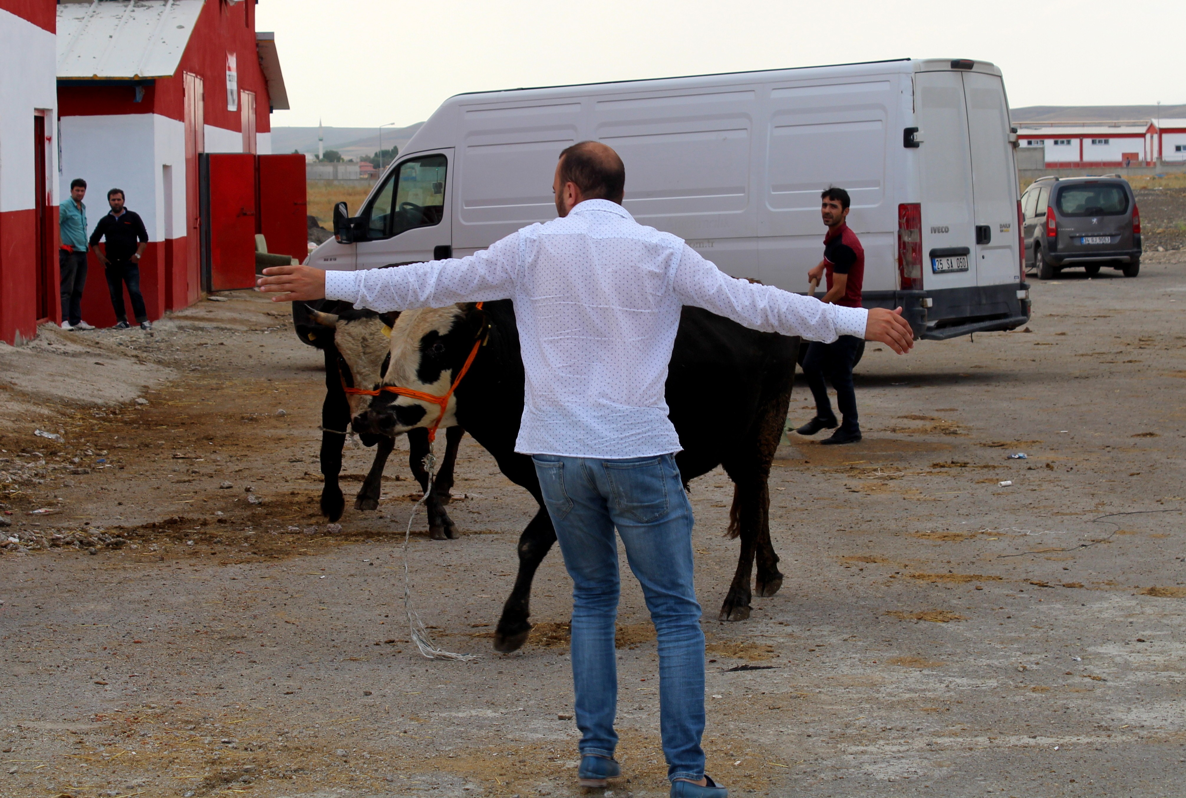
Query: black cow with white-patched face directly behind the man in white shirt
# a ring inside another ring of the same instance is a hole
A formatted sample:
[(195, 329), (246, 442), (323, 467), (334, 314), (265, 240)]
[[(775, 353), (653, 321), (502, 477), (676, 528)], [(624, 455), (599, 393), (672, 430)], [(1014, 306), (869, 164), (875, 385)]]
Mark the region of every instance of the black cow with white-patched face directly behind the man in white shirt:
[[(493, 455), (502, 472), (540, 503), (519, 537), (518, 575), (495, 632), (495, 649), (515, 651), (531, 628), (531, 580), (556, 534), (531, 458), (515, 453), (524, 376), (511, 302), (404, 311), (391, 332), (391, 363), (384, 383), (442, 395), (474, 341), (483, 339), (486, 343), (457, 388), (449, 420), (465, 427)], [(725, 467), (733, 480), (728, 535), (741, 537), (721, 620), (750, 617), (755, 556), (758, 595), (773, 595), (783, 583), (770, 542), (766, 480), (783, 435), (798, 345), (798, 338), (754, 332), (699, 308), (686, 307), (681, 315), (667, 381), (670, 419), (683, 445), (676, 464), (686, 486), (718, 465)], [(355, 427), (391, 435), (431, 424), (436, 411), (433, 404), (384, 392), (355, 419)]]

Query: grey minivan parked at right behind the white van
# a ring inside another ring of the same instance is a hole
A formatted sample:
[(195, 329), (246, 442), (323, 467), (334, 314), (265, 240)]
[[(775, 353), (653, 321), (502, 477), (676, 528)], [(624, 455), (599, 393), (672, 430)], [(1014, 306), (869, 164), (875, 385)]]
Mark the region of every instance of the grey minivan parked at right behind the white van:
[(1067, 267), (1088, 276), (1101, 267), (1135, 277), (1141, 269), (1141, 212), (1133, 187), (1118, 174), (1046, 177), (1021, 197), (1026, 266), (1051, 280)]

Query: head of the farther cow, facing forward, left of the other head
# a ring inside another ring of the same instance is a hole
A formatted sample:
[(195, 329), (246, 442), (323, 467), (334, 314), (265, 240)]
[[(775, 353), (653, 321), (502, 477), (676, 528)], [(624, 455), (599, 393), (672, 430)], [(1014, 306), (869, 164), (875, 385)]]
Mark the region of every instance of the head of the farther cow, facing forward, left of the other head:
[[(340, 313), (312, 311), (310, 319), (326, 332), (332, 331), (333, 346), (338, 350), (338, 371), (347, 388), (376, 390), (390, 352), (391, 325), (398, 313), (345, 309)], [(366, 409), (369, 396), (347, 394), (351, 417)]]

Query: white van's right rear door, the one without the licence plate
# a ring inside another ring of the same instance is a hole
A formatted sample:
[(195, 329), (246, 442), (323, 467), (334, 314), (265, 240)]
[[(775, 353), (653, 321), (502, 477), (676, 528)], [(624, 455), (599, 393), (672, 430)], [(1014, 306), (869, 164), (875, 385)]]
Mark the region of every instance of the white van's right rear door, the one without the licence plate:
[[(1005, 87), (995, 75), (964, 72), (977, 244), (976, 285), (1016, 282), (1018, 194)], [(925, 146), (925, 145), (924, 145)]]

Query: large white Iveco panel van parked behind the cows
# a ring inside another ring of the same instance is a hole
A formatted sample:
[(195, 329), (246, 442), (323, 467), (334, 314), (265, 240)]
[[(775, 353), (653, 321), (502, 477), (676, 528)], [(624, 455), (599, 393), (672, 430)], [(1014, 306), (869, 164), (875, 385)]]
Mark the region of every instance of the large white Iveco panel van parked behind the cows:
[[(788, 291), (823, 256), (820, 192), (848, 190), (865, 305), (901, 305), (916, 336), (1029, 318), (1001, 71), (903, 59), (483, 91), (448, 98), (376, 181), (339, 204), (306, 263), (372, 269), (461, 257), (556, 215), (565, 147), (613, 147), (625, 208), (718, 267)], [(300, 321), (300, 319), (298, 319)]]

